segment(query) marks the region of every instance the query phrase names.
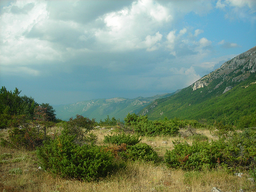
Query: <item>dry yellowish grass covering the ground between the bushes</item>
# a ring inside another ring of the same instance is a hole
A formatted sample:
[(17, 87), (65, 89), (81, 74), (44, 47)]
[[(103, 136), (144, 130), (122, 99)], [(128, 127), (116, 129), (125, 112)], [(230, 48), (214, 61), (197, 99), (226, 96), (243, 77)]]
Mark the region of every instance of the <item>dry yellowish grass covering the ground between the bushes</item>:
[[(94, 130), (98, 135), (98, 144), (103, 143), (104, 135), (110, 129)], [(209, 134), (208, 131), (199, 131)], [(0, 134), (6, 135), (1, 130)], [(207, 135), (208, 138), (210, 136)], [(163, 157), (166, 149), (173, 148), (173, 140), (185, 140), (182, 137), (143, 137)], [(164, 142), (163, 142), (164, 141)], [(187, 140), (187, 142), (191, 142)], [(0, 191), (210, 191), (218, 187), (222, 191), (256, 191), (255, 183), (249, 181), (244, 173), (242, 178), (223, 169), (185, 172), (169, 169), (164, 164), (128, 162), (127, 167), (115, 175), (98, 182), (81, 182), (56, 177), (38, 169), (36, 152), (15, 150), (0, 146)]]

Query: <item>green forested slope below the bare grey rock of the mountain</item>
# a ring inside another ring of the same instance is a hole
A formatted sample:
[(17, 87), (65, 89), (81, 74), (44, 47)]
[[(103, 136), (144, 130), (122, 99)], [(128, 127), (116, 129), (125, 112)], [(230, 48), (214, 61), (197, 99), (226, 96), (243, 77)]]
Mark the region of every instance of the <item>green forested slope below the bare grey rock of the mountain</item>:
[(150, 119), (178, 117), (180, 119), (205, 119), (210, 123), (221, 120), (236, 123), (241, 117), (253, 114), (256, 111), (255, 81), (254, 75), (253, 78), (217, 96), (200, 95), (200, 89), (193, 92), (191, 88), (186, 88), (180, 94), (155, 100), (140, 114), (151, 108), (146, 113)]

